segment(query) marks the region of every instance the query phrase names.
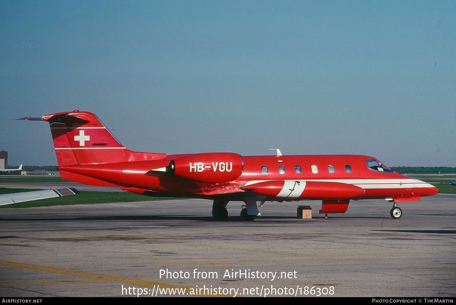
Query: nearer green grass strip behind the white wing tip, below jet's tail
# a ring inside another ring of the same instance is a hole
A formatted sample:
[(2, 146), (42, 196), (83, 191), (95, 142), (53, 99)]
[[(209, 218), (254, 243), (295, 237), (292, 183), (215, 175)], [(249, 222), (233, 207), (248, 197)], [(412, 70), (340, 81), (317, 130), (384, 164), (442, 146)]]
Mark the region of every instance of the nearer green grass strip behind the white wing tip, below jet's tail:
[[(0, 188), (0, 194), (17, 193), (21, 191), (40, 191), (40, 189), (21, 189), (21, 188)], [(0, 206), (0, 208), (15, 208), (15, 207), (49, 207), (61, 206), (70, 204), (91, 204), (91, 203), (111, 203), (111, 202), (138, 202), (138, 201), (154, 201), (154, 200), (172, 200), (172, 199), (187, 199), (187, 198), (163, 198), (143, 196), (128, 192), (118, 191), (81, 191), (80, 194), (71, 196), (62, 196), (49, 199), (40, 199), (36, 201), (20, 202)]]

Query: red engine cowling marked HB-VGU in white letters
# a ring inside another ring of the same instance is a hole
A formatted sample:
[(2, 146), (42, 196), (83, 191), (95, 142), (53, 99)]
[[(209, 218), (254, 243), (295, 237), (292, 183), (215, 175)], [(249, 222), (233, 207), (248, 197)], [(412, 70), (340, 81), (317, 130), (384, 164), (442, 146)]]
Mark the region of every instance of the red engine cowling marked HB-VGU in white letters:
[(179, 177), (205, 183), (225, 183), (242, 174), (242, 156), (234, 153), (184, 155), (171, 160), (166, 171)]

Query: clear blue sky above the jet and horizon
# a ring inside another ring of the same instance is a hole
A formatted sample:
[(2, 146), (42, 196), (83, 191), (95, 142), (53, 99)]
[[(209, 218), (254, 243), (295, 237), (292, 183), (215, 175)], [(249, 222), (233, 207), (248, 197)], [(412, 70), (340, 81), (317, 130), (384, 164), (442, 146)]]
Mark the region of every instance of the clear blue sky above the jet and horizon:
[(455, 1), (0, 1), (0, 150), (57, 165), (91, 111), (132, 150), (456, 166)]

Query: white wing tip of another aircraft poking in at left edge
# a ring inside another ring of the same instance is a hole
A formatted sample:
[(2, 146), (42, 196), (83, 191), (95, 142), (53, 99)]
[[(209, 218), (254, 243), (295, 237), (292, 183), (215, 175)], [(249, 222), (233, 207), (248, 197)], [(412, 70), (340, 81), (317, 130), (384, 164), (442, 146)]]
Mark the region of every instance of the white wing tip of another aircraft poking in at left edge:
[(75, 194), (79, 194), (79, 191), (73, 187), (60, 188), (56, 190), (26, 191), (21, 193), (2, 194), (0, 195), (0, 206), (3, 206), (5, 204), (13, 204), (18, 202), (26, 202)]

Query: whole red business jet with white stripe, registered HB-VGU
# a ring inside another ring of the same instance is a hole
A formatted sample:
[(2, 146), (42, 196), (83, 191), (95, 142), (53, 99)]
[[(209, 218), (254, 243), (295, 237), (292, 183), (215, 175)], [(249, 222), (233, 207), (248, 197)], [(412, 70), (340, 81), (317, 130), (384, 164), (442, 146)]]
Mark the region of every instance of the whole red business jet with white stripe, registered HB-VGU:
[(392, 171), (367, 155), (241, 156), (235, 153), (166, 155), (121, 145), (98, 117), (74, 110), (46, 114), (63, 179), (118, 187), (146, 196), (213, 200), (212, 216), (228, 217), (229, 201), (244, 202), (241, 217), (254, 220), (266, 201), (321, 200), (321, 214), (345, 213), (350, 200), (386, 199), (391, 217), (398, 202), (420, 201), (439, 191), (429, 183)]

